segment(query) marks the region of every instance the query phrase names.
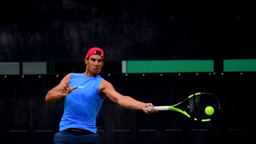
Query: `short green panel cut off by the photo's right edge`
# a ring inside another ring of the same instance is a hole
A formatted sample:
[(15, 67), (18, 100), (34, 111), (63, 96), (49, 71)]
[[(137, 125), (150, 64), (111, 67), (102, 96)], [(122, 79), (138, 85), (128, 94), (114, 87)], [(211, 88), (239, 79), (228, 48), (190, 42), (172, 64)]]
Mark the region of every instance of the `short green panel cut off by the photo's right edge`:
[(224, 71), (256, 71), (256, 59), (226, 59)]

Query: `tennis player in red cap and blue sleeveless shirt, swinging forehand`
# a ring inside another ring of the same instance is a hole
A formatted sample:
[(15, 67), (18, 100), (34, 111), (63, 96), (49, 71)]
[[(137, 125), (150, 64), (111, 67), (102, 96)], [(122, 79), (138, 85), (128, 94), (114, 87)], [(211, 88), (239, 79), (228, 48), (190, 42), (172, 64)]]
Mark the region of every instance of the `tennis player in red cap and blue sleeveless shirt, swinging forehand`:
[(85, 64), (85, 73), (67, 74), (45, 97), (46, 102), (65, 98), (59, 132), (54, 136), (55, 144), (99, 144), (96, 117), (105, 97), (126, 109), (158, 112), (151, 103), (119, 94), (111, 83), (98, 75), (104, 64), (102, 49), (92, 47), (88, 50)]

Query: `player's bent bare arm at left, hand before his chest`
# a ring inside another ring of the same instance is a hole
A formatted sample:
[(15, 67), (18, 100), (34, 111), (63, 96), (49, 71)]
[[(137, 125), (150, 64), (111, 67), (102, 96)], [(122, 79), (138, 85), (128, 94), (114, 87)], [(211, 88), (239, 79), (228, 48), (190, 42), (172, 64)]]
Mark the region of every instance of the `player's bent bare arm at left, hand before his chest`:
[[(77, 88), (77, 86), (72, 88), (69, 87), (68, 81), (70, 79), (70, 75), (71, 73), (67, 74), (59, 83), (59, 85), (47, 92), (45, 96), (45, 102), (55, 102), (62, 97), (66, 97), (70, 92), (72, 92), (72, 90)], [(62, 94), (59, 93), (61, 90), (63, 90)]]

